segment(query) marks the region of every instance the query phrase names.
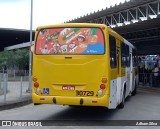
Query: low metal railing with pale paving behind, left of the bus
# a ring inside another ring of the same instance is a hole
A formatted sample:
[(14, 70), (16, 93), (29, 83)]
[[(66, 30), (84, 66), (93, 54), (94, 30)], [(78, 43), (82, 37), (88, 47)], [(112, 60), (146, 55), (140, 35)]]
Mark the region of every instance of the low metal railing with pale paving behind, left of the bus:
[(0, 71), (0, 104), (31, 98), (27, 70)]

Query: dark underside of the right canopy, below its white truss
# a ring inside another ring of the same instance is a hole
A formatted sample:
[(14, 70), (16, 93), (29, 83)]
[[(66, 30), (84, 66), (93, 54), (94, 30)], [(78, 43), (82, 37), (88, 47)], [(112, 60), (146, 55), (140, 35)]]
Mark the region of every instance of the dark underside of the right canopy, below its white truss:
[(139, 55), (160, 53), (160, 18), (114, 28), (133, 43)]

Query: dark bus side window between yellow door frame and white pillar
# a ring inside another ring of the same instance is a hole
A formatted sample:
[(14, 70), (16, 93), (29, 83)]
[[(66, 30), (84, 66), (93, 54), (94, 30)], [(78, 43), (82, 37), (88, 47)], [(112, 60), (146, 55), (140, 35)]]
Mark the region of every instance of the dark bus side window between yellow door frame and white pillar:
[(125, 43), (121, 43), (121, 66), (123, 68), (130, 66), (130, 57), (129, 57), (129, 46)]

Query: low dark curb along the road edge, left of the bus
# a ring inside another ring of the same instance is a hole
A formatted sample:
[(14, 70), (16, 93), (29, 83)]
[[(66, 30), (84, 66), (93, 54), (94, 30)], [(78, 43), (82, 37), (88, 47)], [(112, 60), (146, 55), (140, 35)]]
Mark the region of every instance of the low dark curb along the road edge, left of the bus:
[(18, 108), (27, 104), (32, 103), (31, 98), (30, 99), (25, 99), (25, 100), (18, 100), (16, 102), (6, 102), (0, 104), (0, 111), (2, 110), (8, 110), (8, 109), (13, 109), (13, 108)]

